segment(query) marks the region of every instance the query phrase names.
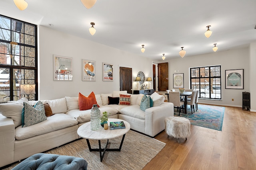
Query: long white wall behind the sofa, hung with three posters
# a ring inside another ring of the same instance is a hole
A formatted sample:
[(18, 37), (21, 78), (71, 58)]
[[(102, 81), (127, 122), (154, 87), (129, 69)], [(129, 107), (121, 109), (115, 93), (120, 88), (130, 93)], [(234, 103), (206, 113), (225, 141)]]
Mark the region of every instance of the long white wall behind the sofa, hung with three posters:
[[(119, 90), (119, 66), (131, 67), (133, 80), (139, 71), (152, 77), (152, 60), (106, 45), (88, 41), (53, 29), (38, 26), (39, 99), (88, 96)], [(138, 49), (140, 50), (140, 49)], [(53, 80), (53, 55), (73, 58), (73, 81)], [(82, 59), (96, 61), (96, 81), (82, 81)], [(103, 82), (102, 63), (114, 65), (113, 82)]]

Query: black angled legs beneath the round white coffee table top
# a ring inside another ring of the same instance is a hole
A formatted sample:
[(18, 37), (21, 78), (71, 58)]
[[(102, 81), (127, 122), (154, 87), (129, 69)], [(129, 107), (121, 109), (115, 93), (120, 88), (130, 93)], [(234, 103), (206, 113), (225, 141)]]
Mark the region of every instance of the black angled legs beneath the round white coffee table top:
[(89, 148), (90, 152), (91, 151), (99, 151), (100, 152), (100, 162), (102, 162), (103, 156), (104, 156), (106, 151), (119, 151), (119, 152), (121, 151), (121, 148), (122, 148), (122, 145), (123, 145), (123, 142), (124, 142), (124, 137), (125, 137), (125, 134), (122, 137), (122, 141), (120, 143), (119, 148), (107, 148), (108, 147), (108, 141), (107, 141), (106, 146), (103, 149), (103, 148), (101, 148), (100, 140), (98, 140), (99, 141), (99, 148), (92, 149), (89, 139), (86, 139), (86, 142), (87, 142), (87, 145), (88, 145), (88, 148)]

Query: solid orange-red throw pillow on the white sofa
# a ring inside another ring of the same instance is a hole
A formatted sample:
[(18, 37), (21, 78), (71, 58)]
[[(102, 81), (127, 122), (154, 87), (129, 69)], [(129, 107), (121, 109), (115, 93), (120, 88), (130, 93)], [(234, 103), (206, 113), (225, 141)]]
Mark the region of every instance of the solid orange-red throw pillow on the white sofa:
[[(92, 105), (94, 105), (94, 104), (97, 104), (94, 92), (91, 92), (91, 94), (88, 97), (79, 93), (79, 95), (78, 95), (79, 110), (92, 109)], [(97, 106), (100, 107), (98, 104), (97, 104)]]

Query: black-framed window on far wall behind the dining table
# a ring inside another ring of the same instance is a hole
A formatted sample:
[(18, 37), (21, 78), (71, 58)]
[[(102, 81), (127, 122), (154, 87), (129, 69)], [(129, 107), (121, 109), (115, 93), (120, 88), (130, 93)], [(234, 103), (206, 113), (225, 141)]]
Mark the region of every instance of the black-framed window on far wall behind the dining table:
[(220, 66), (190, 68), (190, 88), (200, 90), (199, 98), (221, 99)]

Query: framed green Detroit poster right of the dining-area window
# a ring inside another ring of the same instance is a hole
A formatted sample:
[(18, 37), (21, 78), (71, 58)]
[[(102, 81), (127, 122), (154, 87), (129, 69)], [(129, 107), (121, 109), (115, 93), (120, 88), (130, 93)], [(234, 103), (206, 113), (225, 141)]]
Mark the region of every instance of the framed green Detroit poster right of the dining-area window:
[(225, 88), (244, 89), (244, 69), (225, 70)]

